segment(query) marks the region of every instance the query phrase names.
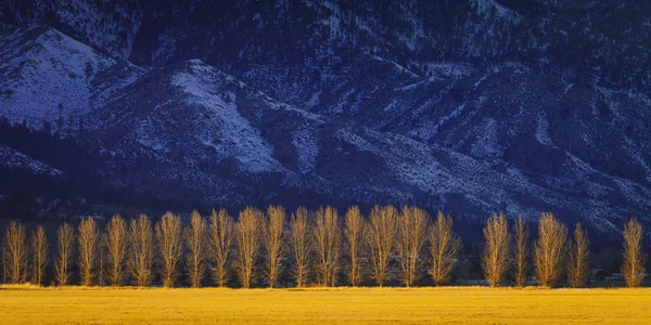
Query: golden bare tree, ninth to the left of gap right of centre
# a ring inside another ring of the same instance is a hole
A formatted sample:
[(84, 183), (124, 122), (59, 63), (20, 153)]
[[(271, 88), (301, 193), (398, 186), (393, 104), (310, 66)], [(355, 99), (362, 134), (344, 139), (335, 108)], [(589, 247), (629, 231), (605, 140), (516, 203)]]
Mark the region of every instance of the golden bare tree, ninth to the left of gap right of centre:
[(228, 281), (228, 262), (233, 240), (233, 218), (225, 209), (217, 213), (213, 210), (210, 214), (210, 256), (213, 258), (213, 277), (220, 287), (226, 286)]

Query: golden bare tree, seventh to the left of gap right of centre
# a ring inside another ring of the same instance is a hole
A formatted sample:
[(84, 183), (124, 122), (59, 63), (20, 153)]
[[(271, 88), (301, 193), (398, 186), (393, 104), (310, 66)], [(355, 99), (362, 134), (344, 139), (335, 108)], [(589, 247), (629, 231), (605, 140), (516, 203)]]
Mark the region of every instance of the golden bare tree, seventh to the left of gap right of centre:
[(266, 273), (269, 287), (273, 288), (283, 271), (282, 260), (285, 255), (285, 210), (281, 206), (269, 206), (265, 219)]

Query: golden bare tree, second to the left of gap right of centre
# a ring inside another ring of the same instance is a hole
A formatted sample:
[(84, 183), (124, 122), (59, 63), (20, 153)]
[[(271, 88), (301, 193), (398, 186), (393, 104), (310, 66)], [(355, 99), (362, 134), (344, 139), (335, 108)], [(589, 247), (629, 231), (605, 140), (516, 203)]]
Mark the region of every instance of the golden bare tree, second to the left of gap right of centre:
[(397, 252), (400, 259), (400, 280), (411, 287), (420, 278), (425, 244), (430, 229), (430, 216), (417, 207), (403, 207), (398, 220)]

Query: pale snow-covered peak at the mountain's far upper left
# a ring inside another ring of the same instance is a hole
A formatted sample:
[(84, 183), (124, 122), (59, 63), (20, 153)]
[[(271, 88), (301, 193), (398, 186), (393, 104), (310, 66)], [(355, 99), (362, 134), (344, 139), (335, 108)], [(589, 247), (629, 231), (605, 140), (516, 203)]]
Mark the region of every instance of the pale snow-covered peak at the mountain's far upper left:
[(143, 73), (51, 28), (0, 35), (0, 115), (34, 128), (88, 113)]

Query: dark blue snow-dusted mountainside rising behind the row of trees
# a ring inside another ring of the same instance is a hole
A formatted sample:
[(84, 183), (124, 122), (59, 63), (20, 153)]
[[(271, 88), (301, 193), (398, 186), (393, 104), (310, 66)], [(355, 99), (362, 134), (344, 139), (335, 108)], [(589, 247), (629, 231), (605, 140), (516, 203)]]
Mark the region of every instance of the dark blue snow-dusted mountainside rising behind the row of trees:
[[(615, 232), (651, 211), (650, 10), (8, 1), (1, 169), (167, 204), (551, 211)], [(90, 161), (9, 140), (16, 126)]]

